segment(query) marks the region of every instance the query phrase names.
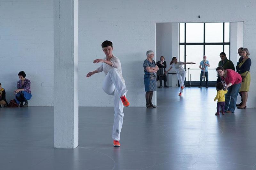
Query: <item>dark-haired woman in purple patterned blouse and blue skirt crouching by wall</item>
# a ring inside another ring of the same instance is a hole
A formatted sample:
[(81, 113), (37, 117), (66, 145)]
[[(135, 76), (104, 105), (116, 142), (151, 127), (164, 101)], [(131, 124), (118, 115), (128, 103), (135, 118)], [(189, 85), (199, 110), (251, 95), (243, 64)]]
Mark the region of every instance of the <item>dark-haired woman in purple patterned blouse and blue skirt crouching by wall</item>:
[[(30, 80), (26, 79), (26, 74), (24, 71), (21, 71), (19, 74), (20, 80), (17, 82), (17, 90), (14, 91), (16, 104), (20, 104), (20, 107), (28, 107), (28, 100), (31, 99), (30, 91)], [(25, 104), (23, 105), (23, 102)]]

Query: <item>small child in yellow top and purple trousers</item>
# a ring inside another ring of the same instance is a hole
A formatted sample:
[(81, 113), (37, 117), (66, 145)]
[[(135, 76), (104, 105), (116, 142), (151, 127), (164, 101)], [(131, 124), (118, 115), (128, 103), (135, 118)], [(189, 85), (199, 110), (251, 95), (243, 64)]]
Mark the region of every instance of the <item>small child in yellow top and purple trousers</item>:
[(221, 107), (221, 113), (222, 115), (224, 115), (225, 94), (228, 92), (228, 90), (223, 90), (224, 86), (222, 82), (219, 82), (216, 84), (216, 89), (218, 91), (217, 91), (216, 97), (214, 98), (214, 102), (218, 99), (218, 103), (217, 103), (217, 112), (215, 113), (215, 115), (220, 115), (220, 107)]

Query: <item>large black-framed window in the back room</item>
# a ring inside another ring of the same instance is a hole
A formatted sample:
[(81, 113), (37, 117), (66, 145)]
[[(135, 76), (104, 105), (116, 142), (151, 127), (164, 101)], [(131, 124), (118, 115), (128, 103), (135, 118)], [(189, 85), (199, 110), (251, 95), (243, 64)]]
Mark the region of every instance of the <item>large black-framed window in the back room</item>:
[(186, 81), (191, 77), (191, 81), (199, 83), (199, 64), (206, 55), (210, 62), (209, 81), (216, 82), (215, 68), (218, 67), (220, 53), (225, 52), (229, 59), (229, 26), (229, 23), (180, 23), (180, 61), (196, 62), (184, 66), (187, 70)]

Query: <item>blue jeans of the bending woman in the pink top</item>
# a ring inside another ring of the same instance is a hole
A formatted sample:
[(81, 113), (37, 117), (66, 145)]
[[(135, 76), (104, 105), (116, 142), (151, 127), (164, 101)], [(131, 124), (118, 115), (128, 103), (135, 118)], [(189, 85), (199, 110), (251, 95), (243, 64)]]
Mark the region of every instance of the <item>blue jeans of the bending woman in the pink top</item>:
[(228, 87), (228, 93), (225, 94), (225, 111), (229, 110), (232, 113), (235, 112), (236, 109), (236, 98), (241, 87), (241, 83), (234, 84)]

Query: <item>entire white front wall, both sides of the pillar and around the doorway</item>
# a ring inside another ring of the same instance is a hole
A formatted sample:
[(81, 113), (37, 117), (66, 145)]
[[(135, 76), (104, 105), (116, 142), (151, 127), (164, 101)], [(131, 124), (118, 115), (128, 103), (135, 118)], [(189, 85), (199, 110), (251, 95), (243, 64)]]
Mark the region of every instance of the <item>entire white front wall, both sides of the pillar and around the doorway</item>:
[[(242, 4), (238, 0), (80, 0), (79, 105), (113, 106), (113, 97), (101, 89), (104, 74), (84, 78), (99, 66), (92, 60), (104, 57), (102, 41), (114, 43), (113, 53), (122, 62), (131, 105), (145, 106), (142, 64), (146, 51), (156, 50), (156, 23), (244, 22), (244, 47), (252, 57), (247, 106), (256, 107), (256, 21), (252, 15), (256, 2), (244, 0)], [(0, 5), (0, 81), (10, 93), (15, 89), (17, 73), (26, 68), (24, 71), (32, 81), (31, 105), (52, 105), (52, 1), (0, 0)]]

